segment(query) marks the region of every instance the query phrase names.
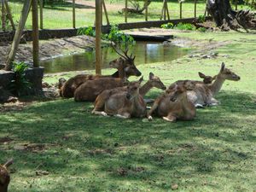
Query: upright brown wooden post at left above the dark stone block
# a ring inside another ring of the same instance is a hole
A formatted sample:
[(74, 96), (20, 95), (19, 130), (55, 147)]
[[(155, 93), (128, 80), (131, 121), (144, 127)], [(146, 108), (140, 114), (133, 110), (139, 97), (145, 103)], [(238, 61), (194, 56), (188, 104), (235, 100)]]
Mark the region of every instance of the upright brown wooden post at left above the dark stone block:
[(33, 67), (39, 67), (38, 0), (32, 0)]

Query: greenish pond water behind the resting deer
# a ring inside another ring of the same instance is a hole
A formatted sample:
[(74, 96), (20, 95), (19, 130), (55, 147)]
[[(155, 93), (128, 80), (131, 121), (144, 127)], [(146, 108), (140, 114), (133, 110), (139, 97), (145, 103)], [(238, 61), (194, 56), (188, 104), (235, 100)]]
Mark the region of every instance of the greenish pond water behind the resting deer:
[[(164, 45), (162, 43), (137, 42), (129, 53), (136, 55), (135, 64), (138, 66), (144, 63), (160, 61), (172, 61), (187, 53), (187, 50), (175, 45)], [(107, 68), (109, 61), (118, 58), (113, 48), (102, 48), (102, 68)], [(45, 73), (59, 73), (68, 71), (80, 71), (95, 69), (95, 51), (66, 55), (54, 59), (41, 61)]]

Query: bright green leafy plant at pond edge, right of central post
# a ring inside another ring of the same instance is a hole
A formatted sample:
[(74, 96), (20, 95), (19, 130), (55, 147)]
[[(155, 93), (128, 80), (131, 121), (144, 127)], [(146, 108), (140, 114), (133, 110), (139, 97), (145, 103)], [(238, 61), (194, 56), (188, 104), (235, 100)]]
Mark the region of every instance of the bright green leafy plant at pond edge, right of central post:
[(110, 32), (103, 36), (103, 39), (112, 41), (115, 44), (135, 44), (131, 35), (119, 31), (118, 26), (111, 26)]

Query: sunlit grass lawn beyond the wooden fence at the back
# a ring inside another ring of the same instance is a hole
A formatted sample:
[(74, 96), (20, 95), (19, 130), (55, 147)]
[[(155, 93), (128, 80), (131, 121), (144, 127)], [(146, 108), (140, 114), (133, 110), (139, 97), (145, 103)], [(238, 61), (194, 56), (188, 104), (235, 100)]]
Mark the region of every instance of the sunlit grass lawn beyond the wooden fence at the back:
[[(85, 3), (83, 3), (85, 2)], [(92, 1), (93, 2), (93, 1)], [(106, 1), (108, 16), (111, 24), (125, 22), (125, 15), (119, 14), (119, 11), (125, 7), (124, 1)], [(15, 22), (17, 23), (20, 18), (20, 11), (22, 9), (22, 3), (10, 2), (10, 7)], [(89, 4), (89, 5), (86, 5)], [(128, 4), (130, 6), (130, 4)], [(171, 19), (179, 18), (179, 4), (177, 1), (170, 1), (168, 4)], [(72, 28), (73, 27), (73, 14), (72, 3), (62, 3), (54, 6), (46, 5), (44, 8), (44, 28)], [(160, 20), (160, 13), (162, 9), (162, 1), (154, 1), (148, 7), (148, 20)], [(247, 9), (246, 6), (239, 6), (239, 9)], [(197, 3), (197, 15), (204, 15), (205, 2), (198, 1)], [(194, 17), (194, 2), (188, 1), (183, 3), (183, 18)], [(81, 1), (76, 4), (76, 26), (92, 26), (95, 20), (94, 4), (91, 5), (91, 1)], [(143, 21), (144, 15), (128, 15), (128, 22)], [(105, 16), (103, 16), (103, 23), (106, 23)], [(26, 21), (26, 28), (32, 28), (32, 14), (28, 16)]]

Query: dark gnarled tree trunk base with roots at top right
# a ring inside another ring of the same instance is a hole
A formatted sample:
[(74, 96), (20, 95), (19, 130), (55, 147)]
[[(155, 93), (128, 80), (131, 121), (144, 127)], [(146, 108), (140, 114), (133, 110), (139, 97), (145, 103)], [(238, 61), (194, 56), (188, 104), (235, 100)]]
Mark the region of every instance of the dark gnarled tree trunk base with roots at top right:
[(207, 0), (207, 11), (223, 31), (237, 30), (241, 27), (256, 29), (255, 14), (251, 14), (249, 11), (233, 10), (230, 0)]

